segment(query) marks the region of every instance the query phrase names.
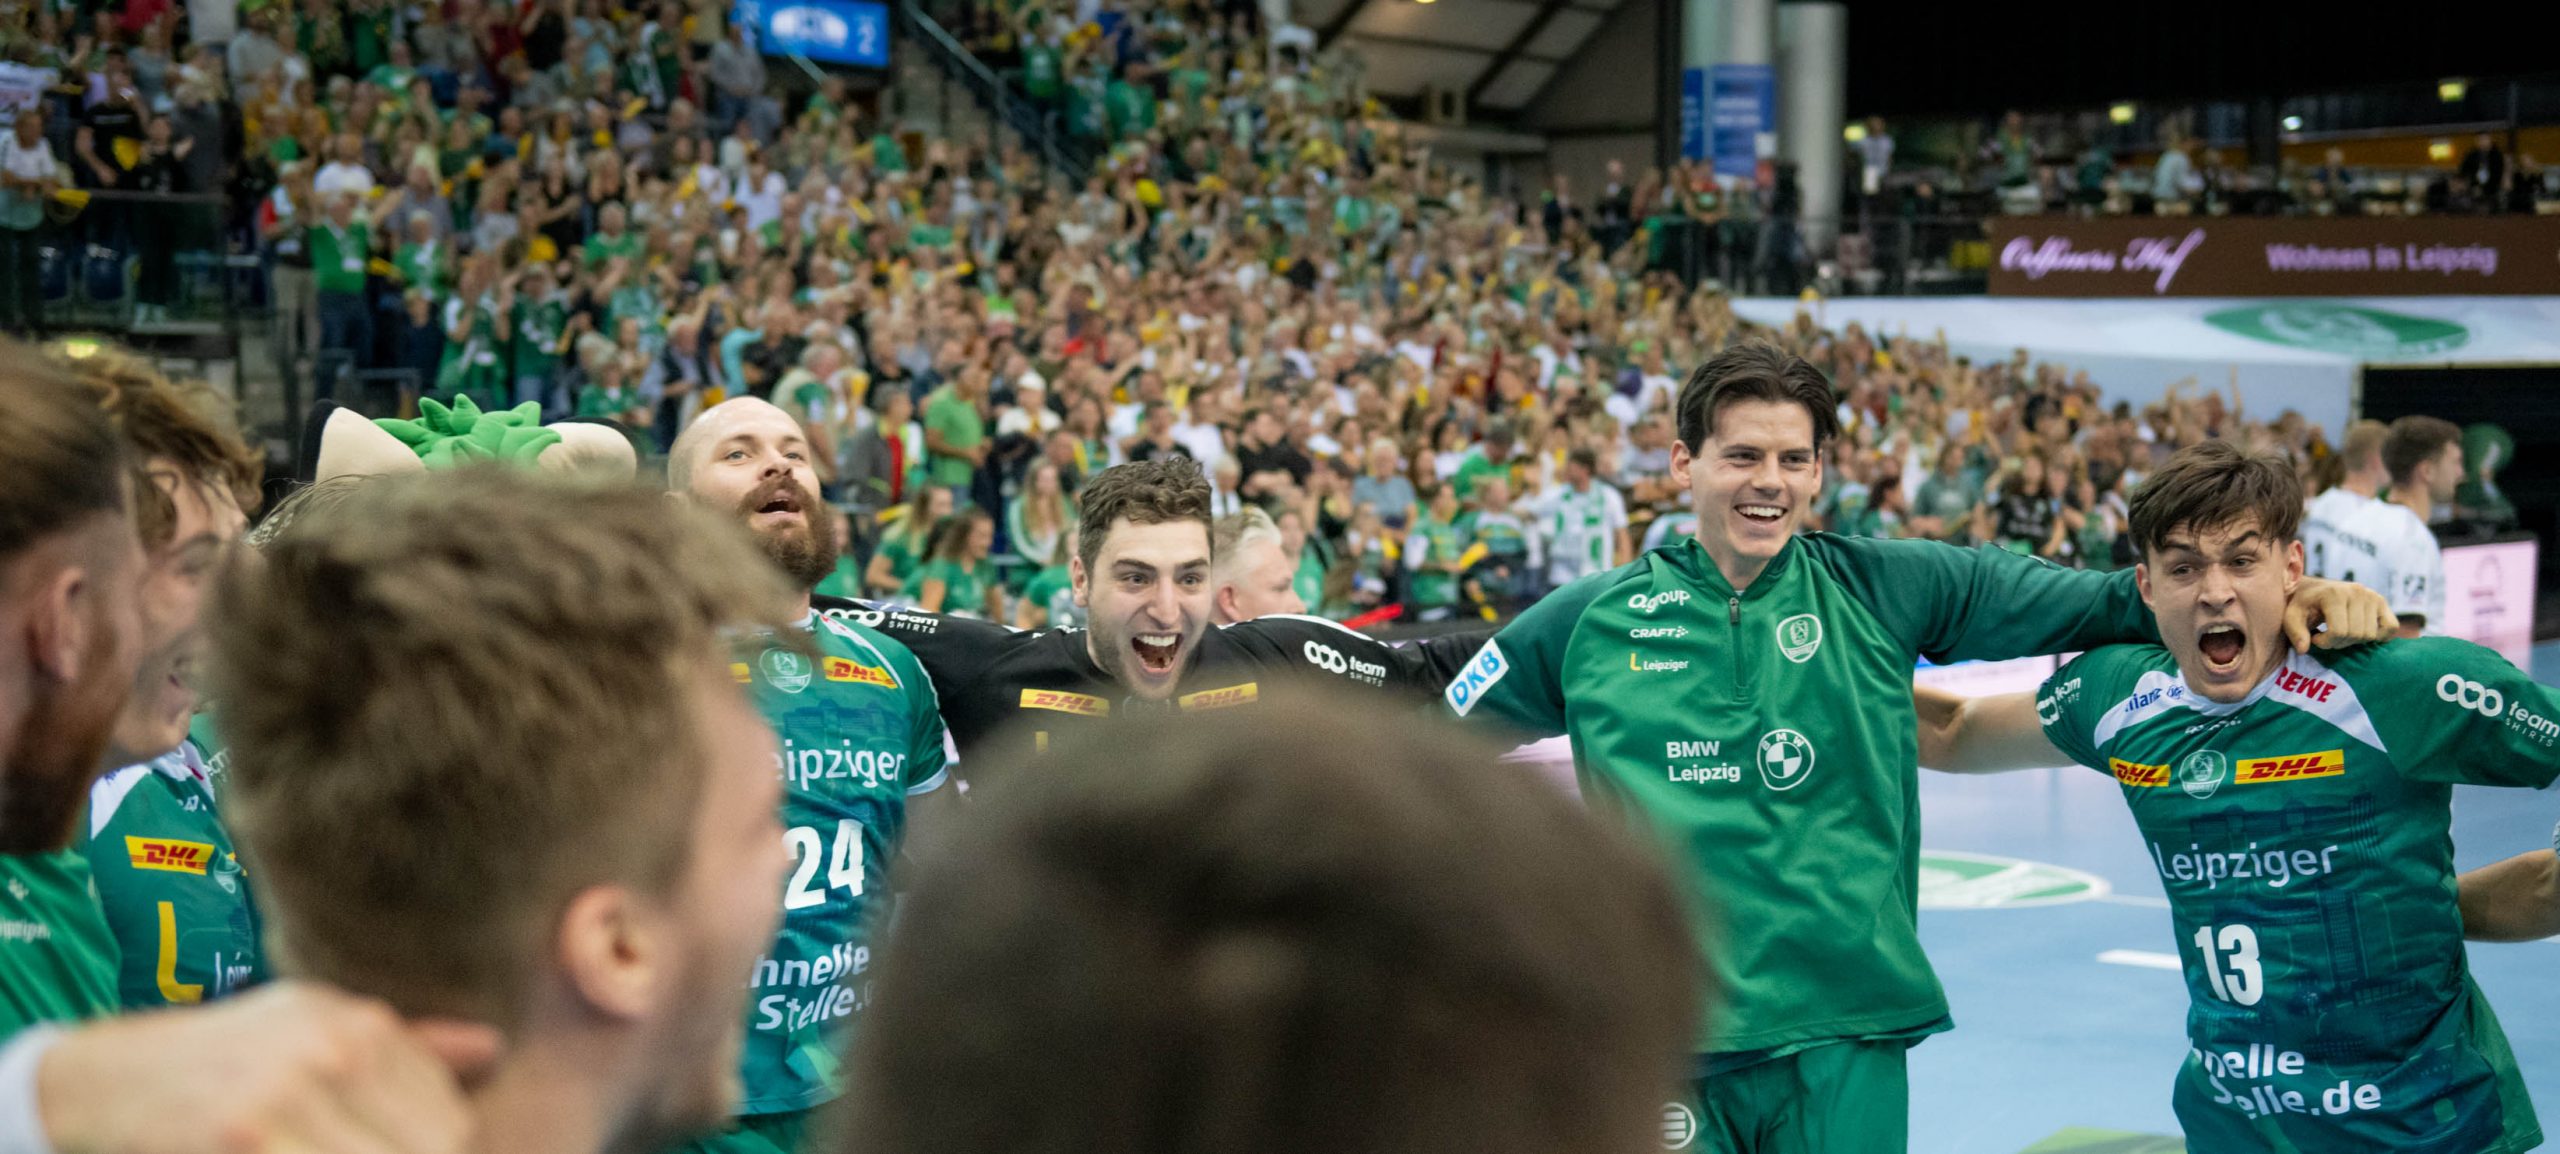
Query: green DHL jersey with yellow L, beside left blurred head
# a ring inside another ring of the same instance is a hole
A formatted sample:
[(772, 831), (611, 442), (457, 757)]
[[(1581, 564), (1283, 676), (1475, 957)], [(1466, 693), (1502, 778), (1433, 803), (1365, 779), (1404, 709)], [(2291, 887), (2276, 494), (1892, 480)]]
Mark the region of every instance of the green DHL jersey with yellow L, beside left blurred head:
[(125, 1008), (187, 1006), (266, 977), (259, 911), (192, 745), (90, 788), (79, 850), (123, 952)]

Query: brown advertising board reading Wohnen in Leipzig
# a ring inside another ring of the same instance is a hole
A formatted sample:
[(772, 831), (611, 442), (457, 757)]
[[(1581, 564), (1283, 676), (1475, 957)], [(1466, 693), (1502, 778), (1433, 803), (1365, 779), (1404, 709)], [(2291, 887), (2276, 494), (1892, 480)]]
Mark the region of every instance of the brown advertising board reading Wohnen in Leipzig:
[(1997, 217), (1992, 294), (2560, 294), (2560, 215)]

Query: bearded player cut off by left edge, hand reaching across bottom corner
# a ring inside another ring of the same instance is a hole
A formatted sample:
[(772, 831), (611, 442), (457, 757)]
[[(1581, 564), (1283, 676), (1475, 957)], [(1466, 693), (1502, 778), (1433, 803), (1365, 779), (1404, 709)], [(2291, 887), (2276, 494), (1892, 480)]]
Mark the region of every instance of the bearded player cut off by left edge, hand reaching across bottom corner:
[(115, 942), (67, 850), (133, 691), (141, 540), (90, 391), (0, 343), (0, 1151), (458, 1154), (453, 1070), (497, 1034), (402, 1024), (307, 983), (220, 1008), (115, 1008)]

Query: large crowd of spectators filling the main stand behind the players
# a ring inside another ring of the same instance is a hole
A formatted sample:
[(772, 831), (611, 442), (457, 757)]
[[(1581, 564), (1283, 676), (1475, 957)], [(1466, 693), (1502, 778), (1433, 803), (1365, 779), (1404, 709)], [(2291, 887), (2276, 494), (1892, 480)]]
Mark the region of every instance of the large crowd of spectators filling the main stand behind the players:
[[(1746, 335), (1656, 261), (1664, 212), (1723, 212), (1705, 174), (1505, 200), (1257, 8), (1001, 13), (978, 49), (1103, 146), (1080, 184), (886, 130), (837, 82), (781, 100), (714, 3), (302, 0), (210, 41), (133, 0), (82, 33), (20, 10), (8, 51), (90, 77), (54, 105), (84, 110), (84, 184), (156, 141), (236, 156), (189, 151), (184, 184), (243, 189), (289, 353), (643, 448), (722, 397), (783, 404), (847, 514), (829, 591), (1070, 614), (1078, 484), (1162, 455), (1221, 512), (1267, 509), (1334, 617), (1500, 614), (1687, 532), (1672, 404)], [(2107, 409), (2025, 353), (1774, 338), (1841, 389), (1838, 532), (2117, 565), (2125, 491), (2168, 450), (2324, 453), (2237, 397)]]

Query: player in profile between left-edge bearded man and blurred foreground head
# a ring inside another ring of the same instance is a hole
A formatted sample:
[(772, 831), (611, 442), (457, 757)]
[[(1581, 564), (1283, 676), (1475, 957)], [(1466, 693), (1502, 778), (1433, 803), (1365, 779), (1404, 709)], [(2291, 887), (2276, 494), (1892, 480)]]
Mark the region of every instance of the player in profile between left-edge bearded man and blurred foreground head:
[(97, 353), (67, 366), (123, 432), (136, 525), (148, 563), (141, 581), (143, 663), (115, 724), (108, 773), (79, 824), (97, 903), (123, 965), (128, 1008), (195, 1003), (264, 975), (259, 919), (241, 883), (218, 780), (187, 745), (195, 716), (200, 609), (259, 499), (259, 461), (205, 415), (202, 386), (146, 363)]

